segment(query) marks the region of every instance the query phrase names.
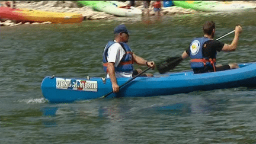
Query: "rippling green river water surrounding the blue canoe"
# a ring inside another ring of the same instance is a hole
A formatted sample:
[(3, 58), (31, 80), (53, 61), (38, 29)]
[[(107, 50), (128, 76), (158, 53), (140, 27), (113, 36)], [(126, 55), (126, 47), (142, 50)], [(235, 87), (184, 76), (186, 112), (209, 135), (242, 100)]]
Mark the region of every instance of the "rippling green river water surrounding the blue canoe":
[[(236, 24), (243, 28), (237, 50), (220, 52), (218, 63), (256, 62), (255, 12), (1, 27), (0, 143), (256, 143), (255, 89), (63, 104), (48, 103), (41, 94), (44, 76), (104, 76), (101, 55), (116, 25), (132, 32), (136, 55), (160, 62), (180, 56), (203, 35), (207, 20), (215, 21), (216, 38)], [(187, 69), (189, 59), (173, 72)]]

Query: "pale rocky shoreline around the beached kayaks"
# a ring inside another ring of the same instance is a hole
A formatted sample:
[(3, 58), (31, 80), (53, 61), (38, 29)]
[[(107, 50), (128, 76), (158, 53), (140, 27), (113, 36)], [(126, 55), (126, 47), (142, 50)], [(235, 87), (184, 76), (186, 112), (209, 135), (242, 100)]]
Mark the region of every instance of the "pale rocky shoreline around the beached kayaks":
[[(34, 9), (40, 11), (52, 11), (52, 12), (72, 12), (82, 14), (84, 20), (101, 20), (101, 19), (114, 19), (119, 18), (111, 14), (107, 14), (105, 12), (94, 11), (91, 7), (78, 7), (76, 1), (15, 1), (15, 8), (26, 8), (26, 9)], [(130, 1), (126, 1), (124, 3), (129, 4)], [(151, 1), (151, 5), (154, 1)], [(240, 1), (243, 2), (243, 1)], [(255, 1), (246, 1), (251, 2), (251, 4), (255, 4)], [(135, 1), (135, 7), (145, 10), (143, 8), (143, 1)], [(197, 13), (193, 9), (184, 9), (180, 7), (167, 7), (162, 8), (162, 15), (175, 15), (175, 14), (192, 14)], [(149, 8), (149, 14), (155, 15), (153, 8)], [(0, 25), (2, 26), (17, 26), (23, 23), (15, 23), (14, 20), (2, 20)], [(24, 23), (30, 24), (30, 23)], [(31, 23), (31, 24), (50, 24), (50, 22), (44, 23)]]

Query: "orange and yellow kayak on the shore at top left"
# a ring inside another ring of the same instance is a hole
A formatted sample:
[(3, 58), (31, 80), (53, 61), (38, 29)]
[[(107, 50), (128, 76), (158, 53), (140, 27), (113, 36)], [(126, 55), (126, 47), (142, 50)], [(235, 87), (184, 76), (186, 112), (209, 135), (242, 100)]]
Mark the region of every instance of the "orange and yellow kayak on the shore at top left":
[(81, 23), (81, 14), (0, 7), (0, 18), (24, 22)]

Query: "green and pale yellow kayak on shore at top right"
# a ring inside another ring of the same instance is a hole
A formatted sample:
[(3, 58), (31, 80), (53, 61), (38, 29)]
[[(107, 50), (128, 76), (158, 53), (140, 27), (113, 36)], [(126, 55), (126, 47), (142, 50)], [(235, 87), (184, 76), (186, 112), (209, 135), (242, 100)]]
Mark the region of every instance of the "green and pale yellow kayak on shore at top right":
[(177, 7), (194, 9), (197, 11), (209, 12), (241, 12), (250, 11), (255, 7), (247, 4), (239, 4), (238, 2), (222, 2), (222, 1), (173, 1)]

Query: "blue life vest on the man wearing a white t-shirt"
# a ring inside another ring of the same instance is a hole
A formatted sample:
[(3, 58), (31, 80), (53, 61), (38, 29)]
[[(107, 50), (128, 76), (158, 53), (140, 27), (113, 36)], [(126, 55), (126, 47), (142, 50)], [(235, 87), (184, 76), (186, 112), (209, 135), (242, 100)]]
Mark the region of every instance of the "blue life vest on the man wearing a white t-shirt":
[[(108, 49), (110, 48), (110, 46), (112, 46), (112, 44), (114, 44), (114, 43), (116, 43), (116, 42), (108, 41), (107, 45), (105, 46), (104, 52), (103, 52), (103, 69), (105, 72), (108, 72), (107, 71), (107, 66), (108, 66), (107, 52), (108, 52)], [(119, 62), (119, 65), (117, 65), (117, 67), (115, 67), (115, 71), (116, 72), (131, 72), (131, 71), (133, 71), (133, 63), (134, 63), (133, 57), (132, 57), (132, 50), (126, 43), (121, 42), (119, 44), (121, 45), (121, 47), (123, 47), (126, 54), (123, 56), (123, 58)]]

